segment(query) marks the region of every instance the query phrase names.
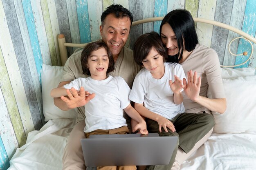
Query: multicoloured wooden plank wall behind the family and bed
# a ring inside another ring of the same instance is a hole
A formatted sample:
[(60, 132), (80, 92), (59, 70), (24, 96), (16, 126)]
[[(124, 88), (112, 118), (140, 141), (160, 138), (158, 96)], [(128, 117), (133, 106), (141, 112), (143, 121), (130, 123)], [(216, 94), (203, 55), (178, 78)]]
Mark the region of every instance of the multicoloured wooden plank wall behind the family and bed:
[[(28, 132), (44, 122), (40, 69), (42, 63), (60, 65), (57, 35), (67, 42), (85, 43), (100, 38), (102, 11), (122, 4), (140, 20), (164, 16), (173, 9), (187, 9), (194, 17), (229, 24), (255, 37), (255, 0), (0, 0), (0, 169), (6, 170), (16, 148)], [(159, 31), (160, 22), (135, 26), (130, 46), (142, 33)], [(233, 65), (248, 56), (231, 57), (227, 51), (235, 33), (197, 23), (200, 43), (215, 49), (221, 64)], [(206, 32), (207, 31), (207, 32)], [(235, 41), (231, 50), (242, 53), (249, 44)], [(254, 44), (256, 49), (256, 45)], [(68, 55), (74, 49), (68, 48)], [(254, 56), (256, 51), (254, 52)], [(256, 67), (255, 57), (244, 67)]]

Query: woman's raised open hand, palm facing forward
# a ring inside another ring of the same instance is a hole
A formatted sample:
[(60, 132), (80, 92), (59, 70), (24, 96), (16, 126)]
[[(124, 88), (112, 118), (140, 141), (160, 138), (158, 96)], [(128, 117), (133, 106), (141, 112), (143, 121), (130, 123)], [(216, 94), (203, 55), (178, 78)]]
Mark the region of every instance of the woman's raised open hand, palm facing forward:
[(193, 102), (196, 102), (199, 98), (200, 86), (201, 86), (201, 77), (197, 78), (197, 73), (193, 74), (193, 71), (188, 71), (188, 82), (186, 79), (183, 79), (184, 92), (189, 99)]

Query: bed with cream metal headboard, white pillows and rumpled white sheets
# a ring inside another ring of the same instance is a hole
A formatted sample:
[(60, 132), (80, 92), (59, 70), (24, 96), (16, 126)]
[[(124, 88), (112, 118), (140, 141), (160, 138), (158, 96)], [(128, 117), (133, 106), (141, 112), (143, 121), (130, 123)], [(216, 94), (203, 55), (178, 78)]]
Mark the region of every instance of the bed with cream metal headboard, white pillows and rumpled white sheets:
[[(159, 20), (162, 20), (162, 17), (135, 21), (132, 25)], [(251, 44), (251, 55), (245, 62), (252, 57), (252, 43), (256, 43), (256, 39), (252, 36), (220, 22), (202, 18), (194, 18), (194, 20), (195, 22), (213, 24), (238, 33)], [(64, 35), (59, 35), (58, 40), (63, 65), (67, 60), (66, 46), (85, 46), (85, 44), (66, 43)], [(245, 52), (241, 55), (246, 55), (247, 53)], [(243, 65), (245, 62), (238, 65)], [(233, 67), (234, 65), (222, 66), (222, 80), (227, 97), (227, 110), (222, 115), (212, 113), (216, 124), (211, 137), (189, 159), (182, 163), (181, 170), (255, 169), (255, 68), (234, 69)], [(40, 130), (29, 132), (26, 144), (16, 150), (10, 160), (10, 168), (8, 170), (62, 169), (63, 150), (75, 124), (76, 109), (62, 111), (54, 106), (53, 99), (49, 96), (51, 89), (58, 85), (61, 73), (61, 66), (43, 64), (41, 71), (43, 113), (47, 123)], [(209, 93), (208, 96), (211, 97), (211, 94)]]

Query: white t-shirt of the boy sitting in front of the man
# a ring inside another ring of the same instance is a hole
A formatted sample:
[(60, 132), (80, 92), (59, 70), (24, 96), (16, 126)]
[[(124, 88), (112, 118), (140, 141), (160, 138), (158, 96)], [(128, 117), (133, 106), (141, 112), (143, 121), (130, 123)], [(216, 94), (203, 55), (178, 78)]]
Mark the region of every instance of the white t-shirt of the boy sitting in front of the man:
[(122, 109), (130, 104), (128, 99), (130, 88), (123, 78), (111, 75), (104, 80), (95, 80), (91, 77), (78, 78), (63, 87), (68, 89), (74, 87), (79, 90), (81, 86), (85, 91), (95, 93), (95, 97), (85, 104), (84, 132), (127, 126)]

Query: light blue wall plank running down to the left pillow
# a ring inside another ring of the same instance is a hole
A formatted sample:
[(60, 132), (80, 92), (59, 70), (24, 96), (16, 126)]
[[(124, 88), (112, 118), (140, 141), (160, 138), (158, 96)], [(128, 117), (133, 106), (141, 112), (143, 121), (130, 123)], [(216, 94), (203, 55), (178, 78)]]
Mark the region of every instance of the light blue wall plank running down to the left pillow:
[(40, 50), (38, 37), (36, 33), (36, 25), (34, 21), (33, 11), (32, 11), (30, 1), (28, 0), (22, 0), (22, 6), (23, 6), (26, 22), (27, 22), (27, 29), (29, 31), (29, 38), (32, 46), (32, 51), (35, 58), (36, 70), (37, 70), (39, 80), (41, 82), (41, 67), (43, 64), (43, 60), (42, 60), (41, 50)]

